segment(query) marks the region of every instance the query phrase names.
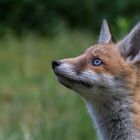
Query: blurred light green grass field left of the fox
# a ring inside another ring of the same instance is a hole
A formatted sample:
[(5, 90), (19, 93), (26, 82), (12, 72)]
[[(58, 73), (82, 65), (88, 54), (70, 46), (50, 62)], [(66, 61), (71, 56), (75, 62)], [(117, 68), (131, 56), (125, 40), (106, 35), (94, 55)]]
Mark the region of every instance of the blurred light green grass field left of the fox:
[(0, 140), (96, 140), (84, 102), (51, 69), (53, 59), (74, 57), (93, 40), (76, 31), (0, 40)]

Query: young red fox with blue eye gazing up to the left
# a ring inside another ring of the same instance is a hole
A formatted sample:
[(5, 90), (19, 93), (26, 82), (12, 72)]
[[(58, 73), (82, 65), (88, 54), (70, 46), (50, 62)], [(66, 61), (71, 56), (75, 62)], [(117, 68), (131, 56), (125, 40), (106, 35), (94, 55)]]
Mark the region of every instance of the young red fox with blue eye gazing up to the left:
[(52, 68), (83, 97), (100, 140), (140, 140), (140, 23), (114, 43), (103, 20), (97, 44)]

